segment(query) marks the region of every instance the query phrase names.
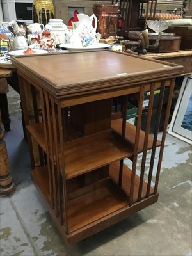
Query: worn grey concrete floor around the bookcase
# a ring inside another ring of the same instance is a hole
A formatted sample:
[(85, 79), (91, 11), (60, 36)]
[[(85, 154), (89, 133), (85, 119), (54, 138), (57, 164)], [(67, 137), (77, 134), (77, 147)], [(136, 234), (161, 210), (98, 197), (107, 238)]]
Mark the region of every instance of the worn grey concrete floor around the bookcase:
[(167, 134), (156, 204), (69, 246), (30, 179), (19, 95), (10, 88), (11, 131), (4, 140), (16, 191), (1, 198), (0, 255), (192, 255), (191, 146)]

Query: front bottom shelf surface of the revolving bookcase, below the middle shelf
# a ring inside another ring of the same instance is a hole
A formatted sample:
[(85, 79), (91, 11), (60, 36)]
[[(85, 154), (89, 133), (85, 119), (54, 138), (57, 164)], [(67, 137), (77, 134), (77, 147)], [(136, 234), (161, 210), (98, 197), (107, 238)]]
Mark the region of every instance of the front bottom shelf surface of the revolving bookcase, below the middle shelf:
[(129, 206), (125, 193), (111, 180), (106, 180), (100, 188), (69, 200), (67, 205), (69, 232), (94, 225), (95, 221)]

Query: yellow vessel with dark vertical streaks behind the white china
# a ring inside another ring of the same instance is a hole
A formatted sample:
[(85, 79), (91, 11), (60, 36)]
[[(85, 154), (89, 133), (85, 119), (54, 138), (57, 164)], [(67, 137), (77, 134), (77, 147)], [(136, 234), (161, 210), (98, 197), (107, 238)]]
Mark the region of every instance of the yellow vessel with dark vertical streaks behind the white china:
[(52, 0), (33, 0), (33, 22), (42, 23), (44, 26), (49, 19), (54, 18)]

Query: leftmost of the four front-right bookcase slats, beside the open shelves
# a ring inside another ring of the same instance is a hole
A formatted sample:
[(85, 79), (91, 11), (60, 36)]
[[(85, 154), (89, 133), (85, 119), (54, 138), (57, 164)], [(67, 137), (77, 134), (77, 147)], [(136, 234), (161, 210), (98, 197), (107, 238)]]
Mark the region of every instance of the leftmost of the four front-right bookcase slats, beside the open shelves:
[(137, 125), (136, 125), (136, 136), (134, 141), (134, 154), (132, 158), (132, 173), (131, 173), (131, 188), (130, 188), (130, 196), (129, 196), (129, 205), (132, 205), (133, 194), (134, 194), (134, 182), (135, 182), (135, 174), (136, 174), (136, 164), (137, 164), (137, 156), (138, 156), (138, 145), (140, 140), (140, 129), (141, 129), (141, 116), (143, 110), (143, 92), (144, 86), (140, 86), (140, 99), (138, 102), (138, 117), (137, 117)]

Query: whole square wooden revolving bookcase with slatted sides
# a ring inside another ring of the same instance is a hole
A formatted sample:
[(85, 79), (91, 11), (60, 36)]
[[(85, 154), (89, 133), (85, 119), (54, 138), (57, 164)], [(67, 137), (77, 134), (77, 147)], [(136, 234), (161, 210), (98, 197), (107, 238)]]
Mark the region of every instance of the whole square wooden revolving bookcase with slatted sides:
[[(182, 66), (109, 50), (13, 57), (12, 61), (28, 131), (31, 178), (68, 243), (92, 236), (157, 201), (175, 77), (182, 74)], [(170, 93), (163, 135), (157, 140), (166, 86)], [(150, 136), (156, 89), (159, 107), (154, 136)], [(140, 126), (146, 90), (150, 99), (144, 132)], [(126, 122), (130, 96), (139, 99), (136, 125)], [(122, 99), (118, 119), (111, 115), (116, 97)], [(29, 98), (35, 124), (30, 124)], [(39, 167), (35, 167), (32, 139), (42, 156)], [(153, 176), (156, 147), (160, 147), (159, 162)], [(136, 174), (138, 153), (142, 153), (140, 175)], [(150, 170), (144, 179), (147, 154)], [(127, 157), (131, 166), (124, 164)]]

